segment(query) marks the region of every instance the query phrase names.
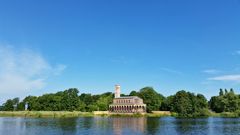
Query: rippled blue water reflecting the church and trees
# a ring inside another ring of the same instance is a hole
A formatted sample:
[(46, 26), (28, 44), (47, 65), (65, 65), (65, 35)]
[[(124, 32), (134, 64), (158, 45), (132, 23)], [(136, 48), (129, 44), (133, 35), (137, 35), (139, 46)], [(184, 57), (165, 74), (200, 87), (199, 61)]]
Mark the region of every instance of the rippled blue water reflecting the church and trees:
[(238, 118), (11, 118), (0, 117), (0, 135), (240, 135)]

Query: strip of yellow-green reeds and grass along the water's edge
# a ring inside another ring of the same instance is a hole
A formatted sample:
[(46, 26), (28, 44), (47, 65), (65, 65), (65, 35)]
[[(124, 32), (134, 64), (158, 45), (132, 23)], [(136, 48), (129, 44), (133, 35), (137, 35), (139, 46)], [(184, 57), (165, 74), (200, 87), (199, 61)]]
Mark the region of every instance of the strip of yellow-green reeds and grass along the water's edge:
[[(153, 112), (145, 114), (117, 114), (107, 111), (79, 112), (79, 111), (0, 111), (0, 117), (31, 117), (31, 118), (71, 118), (71, 117), (177, 117), (176, 113)], [(240, 118), (235, 113), (211, 113), (208, 117)], [(192, 118), (192, 117), (189, 117)], [(201, 118), (201, 117), (195, 117)], [(207, 117), (205, 117), (207, 118)]]

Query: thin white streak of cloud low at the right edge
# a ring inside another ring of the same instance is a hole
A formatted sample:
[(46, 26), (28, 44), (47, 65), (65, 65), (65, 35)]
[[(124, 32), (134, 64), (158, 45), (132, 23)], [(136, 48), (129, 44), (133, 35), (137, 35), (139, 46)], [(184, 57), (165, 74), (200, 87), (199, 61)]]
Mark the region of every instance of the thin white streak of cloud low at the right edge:
[(217, 76), (217, 77), (209, 78), (208, 80), (240, 82), (240, 74)]

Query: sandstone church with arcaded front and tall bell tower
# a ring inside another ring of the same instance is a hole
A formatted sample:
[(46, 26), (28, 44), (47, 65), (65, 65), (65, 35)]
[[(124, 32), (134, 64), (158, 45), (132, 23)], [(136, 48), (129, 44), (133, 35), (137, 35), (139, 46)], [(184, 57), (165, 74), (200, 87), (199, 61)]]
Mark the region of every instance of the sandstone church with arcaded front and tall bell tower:
[(145, 113), (146, 104), (137, 96), (121, 97), (120, 85), (115, 85), (115, 98), (113, 104), (109, 105), (111, 113)]

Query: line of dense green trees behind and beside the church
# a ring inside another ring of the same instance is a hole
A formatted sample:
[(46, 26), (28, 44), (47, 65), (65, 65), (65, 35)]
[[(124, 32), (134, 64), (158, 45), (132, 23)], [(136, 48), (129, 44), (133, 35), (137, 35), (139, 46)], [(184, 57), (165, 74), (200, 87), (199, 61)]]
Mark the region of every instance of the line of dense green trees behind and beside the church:
[[(240, 115), (240, 95), (235, 94), (233, 89), (220, 89), (219, 95), (211, 97), (210, 101), (207, 101), (202, 94), (196, 95), (185, 90), (164, 97), (152, 87), (145, 87), (122, 96), (139, 96), (147, 104), (147, 112), (171, 111), (180, 117), (209, 116), (211, 112), (234, 112)], [(22, 101), (19, 101), (19, 98), (9, 99), (0, 107), (0, 110), (23, 111), (25, 104), (28, 104), (29, 111), (107, 111), (113, 98), (114, 94), (111, 92), (79, 95), (78, 89), (71, 88), (38, 97), (28, 96)]]

